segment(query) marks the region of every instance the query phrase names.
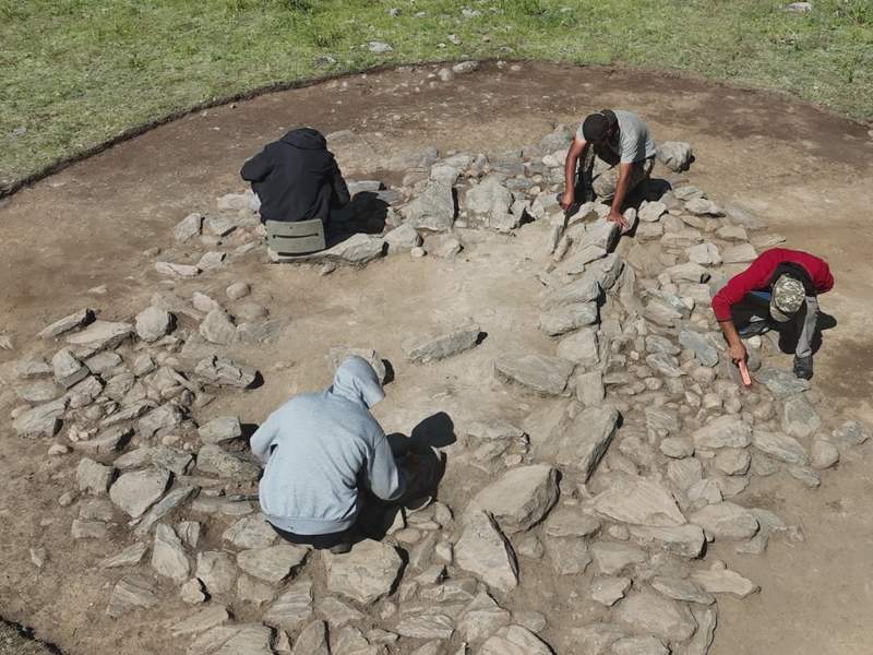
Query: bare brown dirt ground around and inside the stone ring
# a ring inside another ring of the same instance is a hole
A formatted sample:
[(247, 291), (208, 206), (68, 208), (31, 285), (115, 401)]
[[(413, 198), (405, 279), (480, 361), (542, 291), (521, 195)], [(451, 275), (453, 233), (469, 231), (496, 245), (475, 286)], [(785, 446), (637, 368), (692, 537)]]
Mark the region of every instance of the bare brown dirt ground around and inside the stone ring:
[[(354, 130), (361, 138), (336, 150), (347, 176), (364, 178), (374, 169), (396, 170), (392, 159), (417, 146), (504, 151), (535, 143), (555, 121), (572, 124), (590, 109), (620, 106), (641, 112), (658, 140), (691, 141), (697, 159), (693, 181), (710, 196), (746, 205), (769, 222), (772, 231), (784, 234), (789, 247), (832, 263), (837, 285), (823, 298), (823, 308), (839, 324), (816, 358), (815, 382), (827, 412), (873, 418), (873, 350), (864, 327), (873, 319), (866, 221), (873, 204), (873, 143), (866, 128), (780, 96), (653, 73), (489, 66), (446, 85), (429, 83), (432, 70), (359, 75), (204, 111), (2, 201), (0, 332), (11, 333), (24, 352), (40, 326), (84, 305), (103, 307), (109, 318), (131, 318), (160, 286), (143, 251), (169, 246), (171, 227), (188, 212), (206, 211), (215, 196), (241, 190), (242, 160), (287, 128)], [(531, 259), (538, 252), (525, 249), (536, 248), (539, 236), (535, 227), (523, 233), (515, 240), (476, 246), (475, 258), (452, 264), (391, 258), (362, 272), (320, 278), (314, 270), (248, 261), (215, 274), (208, 284), (179, 285), (189, 291), (218, 290), (232, 278), (247, 278), (255, 300), (292, 321), (275, 349), (246, 353), (267, 384), (246, 396), (223, 397), (214, 410), (260, 420), (287, 393), (326, 382), (322, 353), (330, 345), (369, 344), (398, 362), (398, 344), (407, 334), (475, 315), (489, 332), (482, 346), (463, 362), (450, 360), (427, 371), (400, 368), (376, 414), (386, 429), (407, 432), (440, 409), (456, 424), (487, 408), (523, 418), (539, 406), (519, 405), (517, 393), (477, 383), (477, 378), (489, 379), (497, 353), (550, 347), (534, 329), (536, 312), (518, 300), (537, 290)], [(86, 293), (100, 284), (108, 285), (111, 305)], [(0, 365), (15, 356), (0, 350)], [(177, 652), (179, 644), (154, 629), (181, 610), (176, 600), (134, 620), (105, 618), (111, 587), (88, 567), (117, 547), (69, 544), (71, 515), (56, 500), (70, 488), (71, 464), (46, 463), (45, 443), (3, 432), (0, 614), (34, 626), (70, 653), (116, 653), (119, 643), (125, 652)], [(841, 462), (817, 491), (784, 479), (765, 480), (753, 490), (768, 508), (802, 524), (806, 541), (777, 539), (760, 558), (716, 549), (763, 592), (742, 602), (719, 600), (713, 655), (870, 652), (873, 515), (865, 501), (873, 476), (862, 455), (863, 449)], [(464, 480), (450, 476), (450, 502), (464, 495), (463, 487)], [(41, 572), (27, 556), (37, 543), (50, 553)], [(533, 588), (536, 569), (511, 606), (541, 592)], [(588, 604), (574, 599), (572, 588), (555, 583), (551, 593), (553, 624), (587, 622)]]

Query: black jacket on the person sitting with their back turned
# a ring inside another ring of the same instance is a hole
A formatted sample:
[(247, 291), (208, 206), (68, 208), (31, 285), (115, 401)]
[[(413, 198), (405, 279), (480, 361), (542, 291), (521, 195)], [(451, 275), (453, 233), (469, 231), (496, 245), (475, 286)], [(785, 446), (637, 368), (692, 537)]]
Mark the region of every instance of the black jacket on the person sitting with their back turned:
[(262, 221), (327, 222), (331, 207), (349, 201), (339, 166), (321, 132), (291, 130), (246, 162), (242, 179), (261, 199)]

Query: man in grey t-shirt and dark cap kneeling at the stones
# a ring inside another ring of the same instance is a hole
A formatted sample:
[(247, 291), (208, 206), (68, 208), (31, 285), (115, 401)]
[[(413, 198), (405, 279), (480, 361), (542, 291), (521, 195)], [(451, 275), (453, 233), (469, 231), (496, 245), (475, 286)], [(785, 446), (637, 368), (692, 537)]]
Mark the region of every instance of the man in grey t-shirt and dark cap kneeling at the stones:
[(622, 204), (627, 194), (651, 174), (655, 153), (655, 141), (648, 127), (636, 114), (622, 109), (602, 109), (589, 115), (576, 131), (576, 138), (566, 154), (566, 186), (561, 206), (566, 210), (576, 202), (576, 165), (584, 157), (579, 170), (582, 192), (585, 193), (585, 181), (590, 180), (595, 194), (603, 200), (612, 200), (609, 221), (626, 228)]

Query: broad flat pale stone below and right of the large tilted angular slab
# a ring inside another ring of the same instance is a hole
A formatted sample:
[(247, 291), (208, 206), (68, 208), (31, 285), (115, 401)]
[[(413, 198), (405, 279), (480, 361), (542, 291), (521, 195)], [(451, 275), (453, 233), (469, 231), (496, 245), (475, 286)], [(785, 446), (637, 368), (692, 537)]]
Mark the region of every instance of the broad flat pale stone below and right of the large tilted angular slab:
[(594, 509), (619, 523), (651, 527), (685, 523), (673, 496), (660, 484), (643, 478), (618, 480), (594, 499)]

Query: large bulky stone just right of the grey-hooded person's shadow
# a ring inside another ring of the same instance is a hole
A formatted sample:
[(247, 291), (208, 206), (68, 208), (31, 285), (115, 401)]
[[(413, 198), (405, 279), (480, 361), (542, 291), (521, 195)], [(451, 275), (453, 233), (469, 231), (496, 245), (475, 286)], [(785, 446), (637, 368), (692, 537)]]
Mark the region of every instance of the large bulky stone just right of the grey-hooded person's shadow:
[(505, 534), (514, 534), (539, 523), (557, 500), (558, 469), (535, 464), (504, 473), (474, 497), (467, 511), (483, 510)]

